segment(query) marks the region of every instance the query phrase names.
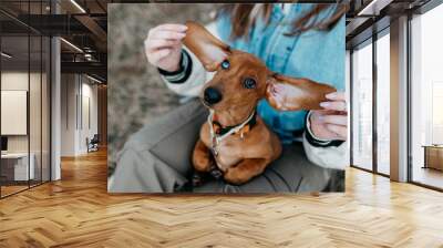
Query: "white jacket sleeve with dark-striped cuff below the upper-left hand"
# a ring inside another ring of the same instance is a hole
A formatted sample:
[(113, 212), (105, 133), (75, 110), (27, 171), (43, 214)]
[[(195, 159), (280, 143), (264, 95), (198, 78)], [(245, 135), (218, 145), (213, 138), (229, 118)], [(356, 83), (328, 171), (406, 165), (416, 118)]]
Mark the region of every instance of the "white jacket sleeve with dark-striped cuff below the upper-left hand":
[[(219, 38), (216, 23), (206, 25), (206, 29)], [(197, 96), (203, 85), (214, 76), (214, 72), (207, 72), (194, 53), (184, 46), (182, 52), (181, 69), (177, 72), (165, 72), (158, 69), (167, 87), (184, 96)]]

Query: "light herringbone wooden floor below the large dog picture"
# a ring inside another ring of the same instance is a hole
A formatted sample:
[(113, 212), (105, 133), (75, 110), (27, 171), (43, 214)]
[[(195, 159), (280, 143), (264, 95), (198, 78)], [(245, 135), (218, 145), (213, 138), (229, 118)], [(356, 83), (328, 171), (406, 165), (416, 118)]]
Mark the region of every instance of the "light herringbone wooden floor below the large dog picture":
[(443, 194), (347, 172), (347, 193), (106, 193), (106, 154), (0, 200), (0, 247), (443, 247)]

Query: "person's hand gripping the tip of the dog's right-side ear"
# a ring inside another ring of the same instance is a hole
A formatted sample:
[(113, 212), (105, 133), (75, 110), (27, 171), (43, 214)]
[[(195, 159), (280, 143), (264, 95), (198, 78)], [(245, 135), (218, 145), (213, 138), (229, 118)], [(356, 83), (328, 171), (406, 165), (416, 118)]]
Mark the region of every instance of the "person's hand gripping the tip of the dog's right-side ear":
[(323, 110), (311, 111), (310, 128), (321, 140), (346, 141), (348, 137), (348, 111), (343, 92), (327, 94), (328, 102), (320, 103)]

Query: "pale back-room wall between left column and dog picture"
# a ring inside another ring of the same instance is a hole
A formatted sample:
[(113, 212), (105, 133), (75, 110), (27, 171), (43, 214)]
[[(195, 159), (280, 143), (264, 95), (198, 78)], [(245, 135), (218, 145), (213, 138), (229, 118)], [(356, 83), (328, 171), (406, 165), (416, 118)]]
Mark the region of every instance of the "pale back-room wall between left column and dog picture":
[[(62, 156), (85, 154), (86, 137), (92, 138), (97, 133), (97, 86), (92, 83), (84, 75), (62, 74)], [(90, 116), (91, 125), (86, 116)]]

